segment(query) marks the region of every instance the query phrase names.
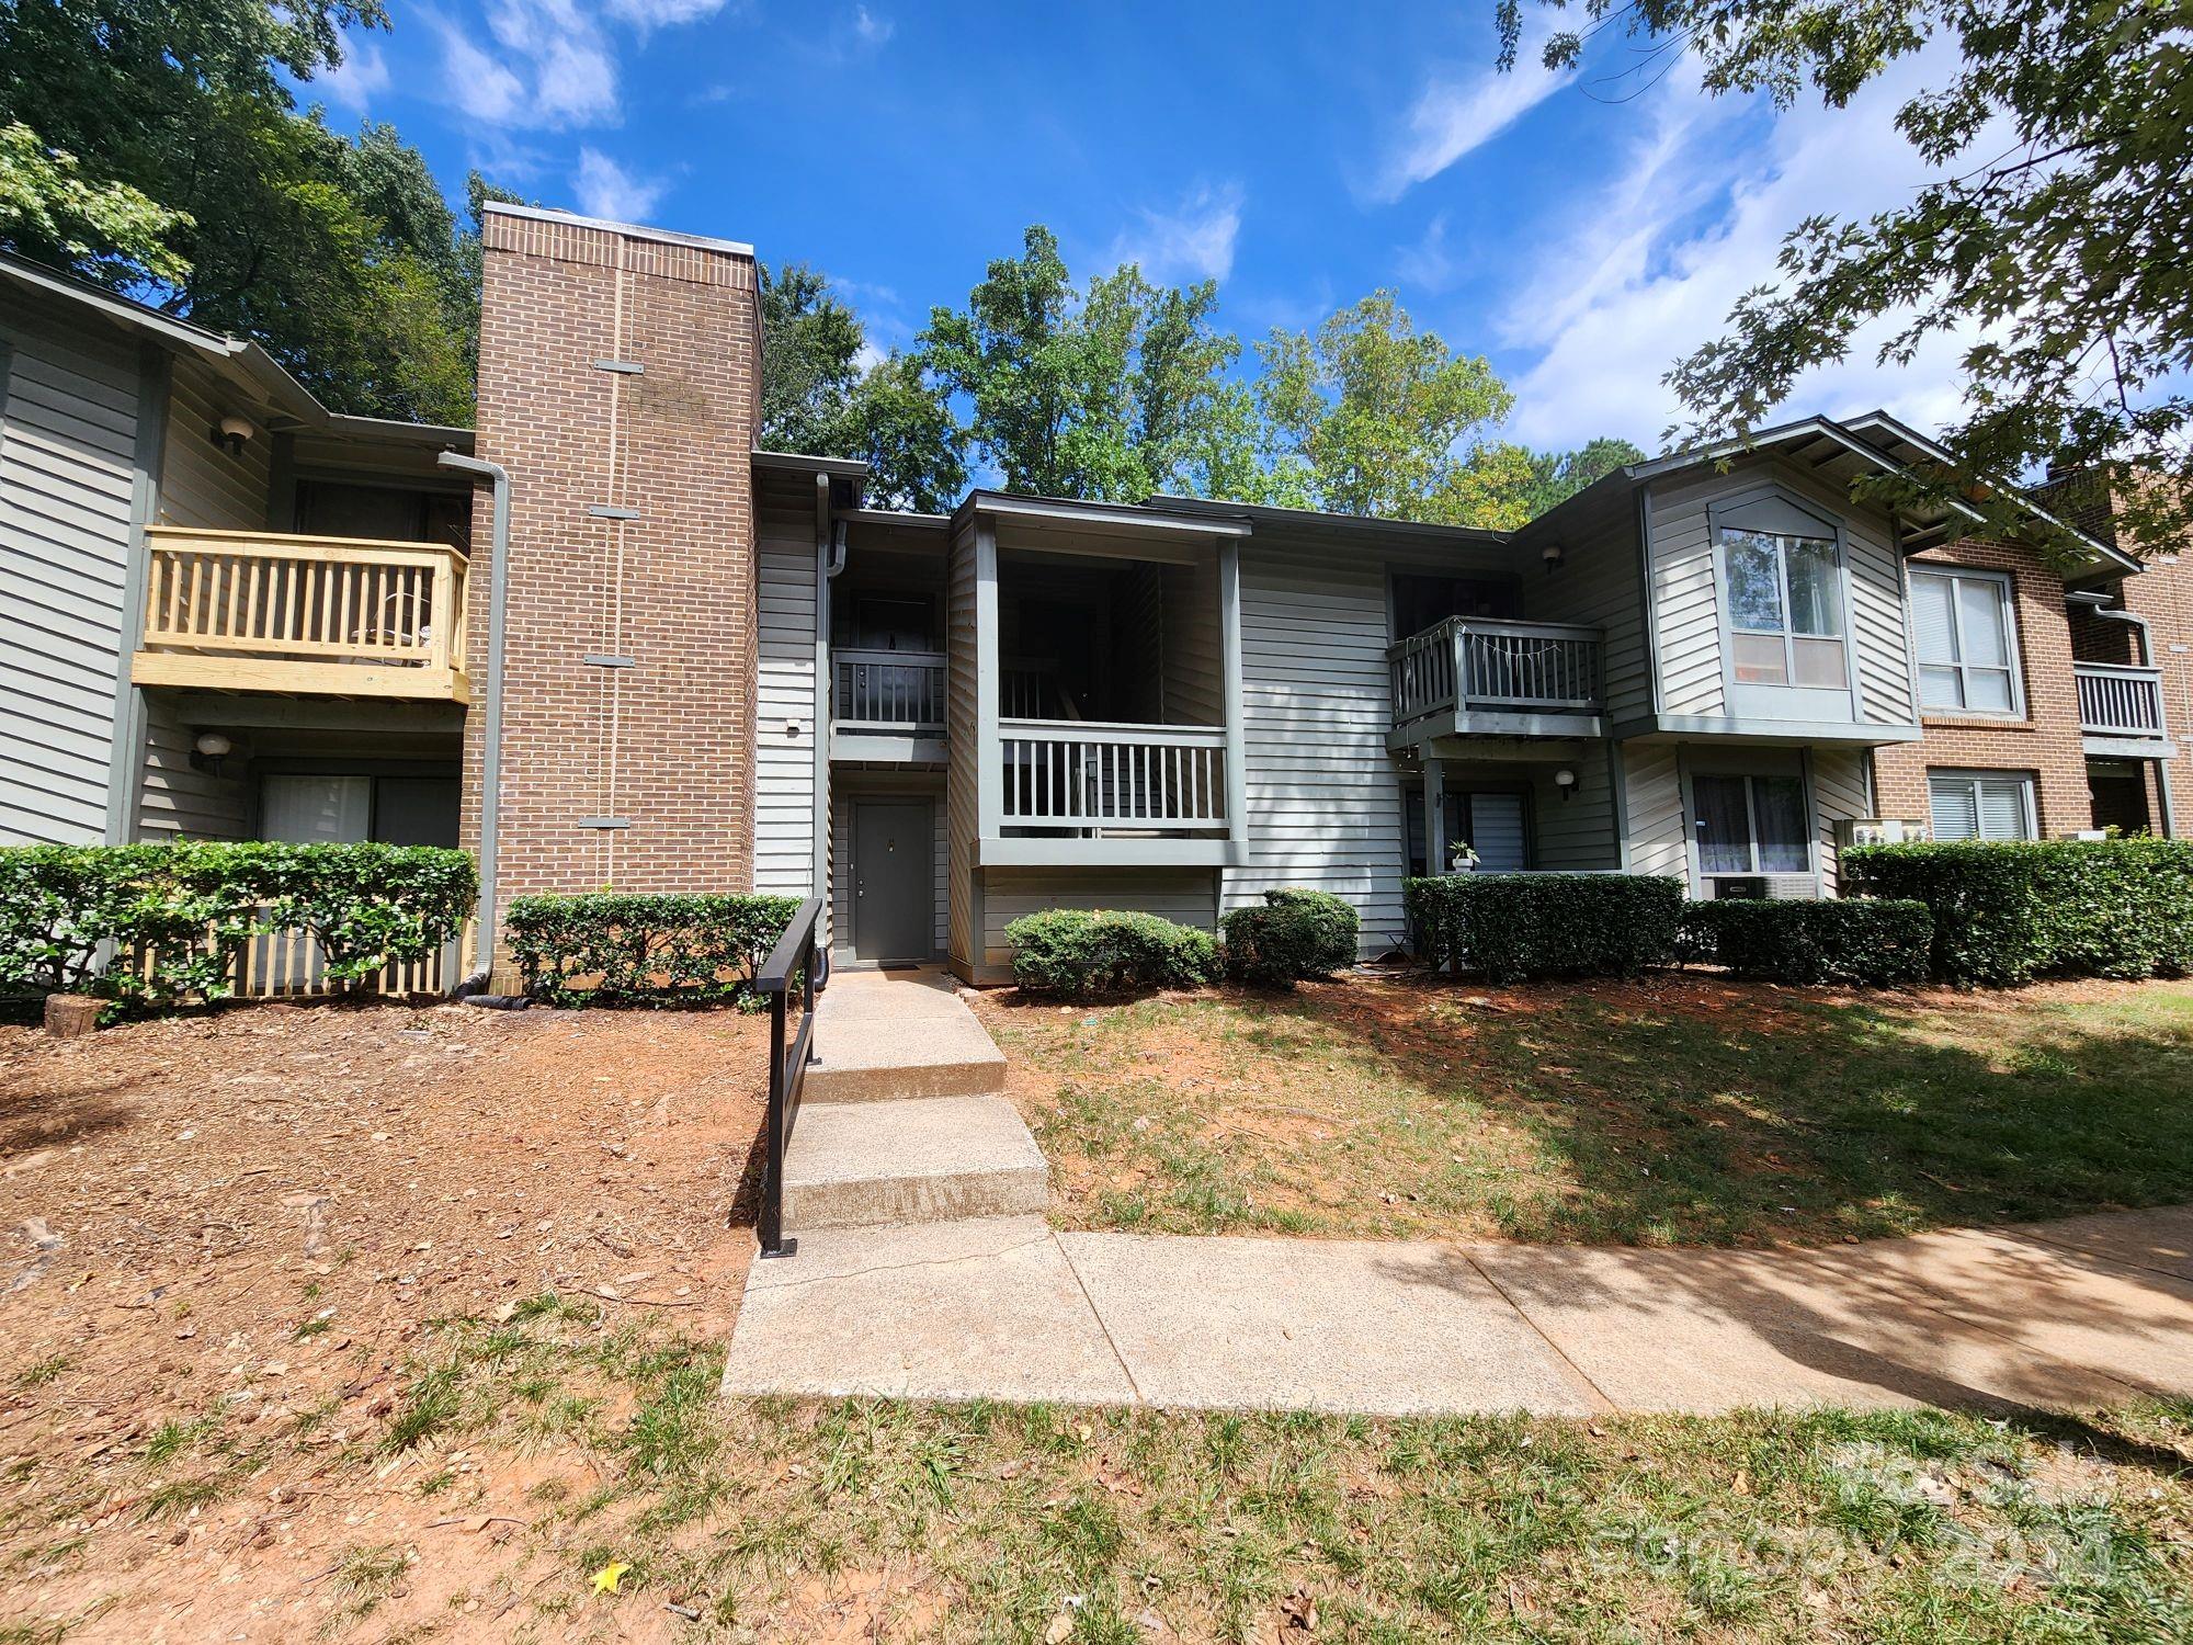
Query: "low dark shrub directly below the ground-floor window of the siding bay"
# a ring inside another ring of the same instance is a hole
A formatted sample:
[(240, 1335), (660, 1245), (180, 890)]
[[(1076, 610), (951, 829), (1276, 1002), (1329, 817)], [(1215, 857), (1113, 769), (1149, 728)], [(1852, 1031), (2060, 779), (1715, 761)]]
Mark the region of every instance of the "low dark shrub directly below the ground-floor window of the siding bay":
[(1908, 987), (1925, 980), (1934, 915), (1923, 901), (1693, 901), (1682, 954), (1770, 983)]

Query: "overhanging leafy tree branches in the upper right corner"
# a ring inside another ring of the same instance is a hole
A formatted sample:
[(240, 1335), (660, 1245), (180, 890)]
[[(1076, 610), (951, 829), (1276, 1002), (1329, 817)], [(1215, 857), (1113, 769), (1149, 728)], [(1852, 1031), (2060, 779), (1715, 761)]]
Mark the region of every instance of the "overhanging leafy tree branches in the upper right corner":
[[(1544, 0), (1561, 7), (1564, 0)], [(1816, 94), (1844, 107), (1899, 57), (1954, 46), (1897, 112), (1936, 180), (1864, 222), (1794, 224), (1776, 279), (1726, 336), (1669, 373), (1702, 441), (1750, 430), (1798, 375), (1886, 322), (1875, 360), (1963, 340), (1954, 461), (1895, 491), (1958, 489), (1998, 529), (2048, 540), (1991, 476), (2138, 467), (2178, 485), (2118, 487), (2149, 542), (2193, 526), (2193, 35), (2182, 2), (2099, 0), (1581, 0), (1586, 29), (1544, 57), (1575, 64), (1621, 20), (1660, 53), (1700, 57), (1708, 94)], [(1500, 0), (1502, 64), (1522, 0)]]

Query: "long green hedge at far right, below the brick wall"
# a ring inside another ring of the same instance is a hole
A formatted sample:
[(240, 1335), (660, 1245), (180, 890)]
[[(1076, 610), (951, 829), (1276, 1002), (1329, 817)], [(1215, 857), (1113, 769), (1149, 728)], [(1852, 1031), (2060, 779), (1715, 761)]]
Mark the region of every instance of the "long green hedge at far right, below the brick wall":
[(1923, 901), (1945, 983), (2193, 969), (2193, 842), (1958, 840), (1842, 853), (1847, 888)]

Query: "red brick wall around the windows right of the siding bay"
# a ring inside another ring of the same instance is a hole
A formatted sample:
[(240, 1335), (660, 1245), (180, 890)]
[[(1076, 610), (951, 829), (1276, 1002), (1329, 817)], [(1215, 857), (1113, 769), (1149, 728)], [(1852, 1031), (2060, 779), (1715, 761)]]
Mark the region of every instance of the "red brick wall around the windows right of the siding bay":
[(1928, 770), (2026, 772), (2042, 838), (2088, 829), (2094, 805), (2086, 787), (2079, 741), (2079, 687), (2072, 680), (2070, 621), (2064, 581), (2031, 548), (1958, 542), (1914, 555), (1914, 566), (1974, 566), (2011, 575), (2018, 612), (2018, 667), (2024, 717), (1925, 713), (1925, 737), (1873, 752), (1873, 790), (1882, 816), (1928, 816)]

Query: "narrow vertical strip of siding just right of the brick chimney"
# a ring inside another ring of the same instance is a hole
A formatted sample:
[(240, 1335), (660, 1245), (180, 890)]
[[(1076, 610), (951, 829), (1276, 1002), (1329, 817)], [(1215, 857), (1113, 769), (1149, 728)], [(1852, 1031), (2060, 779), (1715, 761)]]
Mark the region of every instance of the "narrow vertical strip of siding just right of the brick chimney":
[[(754, 890), (814, 895), (816, 847), (816, 522), (761, 509), (754, 719)], [(792, 726), (794, 733), (785, 735)]]

